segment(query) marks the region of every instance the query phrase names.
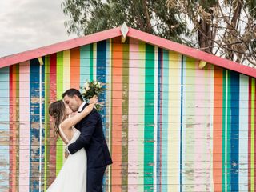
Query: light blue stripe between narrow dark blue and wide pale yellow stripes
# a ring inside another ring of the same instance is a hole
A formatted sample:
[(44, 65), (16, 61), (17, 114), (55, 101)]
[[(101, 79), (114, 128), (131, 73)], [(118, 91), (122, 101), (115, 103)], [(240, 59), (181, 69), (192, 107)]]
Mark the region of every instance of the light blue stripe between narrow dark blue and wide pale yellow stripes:
[[(169, 51), (163, 50), (162, 60), (163, 60), (163, 69), (168, 69), (169, 67)], [(164, 106), (162, 107), (162, 191), (168, 190), (168, 91), (169, 91), (169, 70), (163, 70), (162, 74), (162, 103)]]

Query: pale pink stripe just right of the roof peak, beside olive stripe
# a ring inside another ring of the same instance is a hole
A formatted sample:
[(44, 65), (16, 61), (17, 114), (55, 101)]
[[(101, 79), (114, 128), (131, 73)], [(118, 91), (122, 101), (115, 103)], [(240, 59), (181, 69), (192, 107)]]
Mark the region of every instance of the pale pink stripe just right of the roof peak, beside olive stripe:
[(130, 38), (128, 190), (138, 190), (138, 41)]

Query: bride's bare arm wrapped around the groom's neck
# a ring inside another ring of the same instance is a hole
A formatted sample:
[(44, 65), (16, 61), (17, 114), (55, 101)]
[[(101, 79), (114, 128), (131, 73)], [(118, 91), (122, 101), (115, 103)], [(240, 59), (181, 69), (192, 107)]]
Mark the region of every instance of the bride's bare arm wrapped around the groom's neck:
[(75, 124), (80, 122), (82, 120), (82, 118), (85, 118), (88, 114), (90, 114), (90, 112), (94, 109), (94, 105), (96, 104), (97, 100), (98, 100), (98, 98), (96, 96), (94, 96), (94, 98), (92, 98), (90, 100), (89, 106), (86, 106), (86, 108), (84, 110), (82, 110), (81, 113), (75, 114), (71, 118), (66, 118), (61, 123), (62, 130), (70, 129), (72, 126), (74, 126)]

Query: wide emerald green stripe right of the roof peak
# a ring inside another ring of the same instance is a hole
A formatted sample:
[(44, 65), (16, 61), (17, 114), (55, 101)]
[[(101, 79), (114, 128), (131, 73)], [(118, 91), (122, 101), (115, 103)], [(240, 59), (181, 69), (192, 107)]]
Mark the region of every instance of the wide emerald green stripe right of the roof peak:
[(144, 118), (144, 190), (154, 189), (154, 46), (146, 44)]

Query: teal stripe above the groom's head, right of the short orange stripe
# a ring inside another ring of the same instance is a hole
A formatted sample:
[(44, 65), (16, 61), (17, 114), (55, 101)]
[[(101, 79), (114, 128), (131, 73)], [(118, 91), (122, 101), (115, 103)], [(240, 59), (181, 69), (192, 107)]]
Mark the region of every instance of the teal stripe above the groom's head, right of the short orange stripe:
[(91, 45), (80, 47), (80, 87), (86, 81), (90, 81)]

